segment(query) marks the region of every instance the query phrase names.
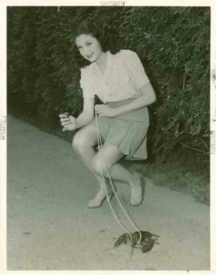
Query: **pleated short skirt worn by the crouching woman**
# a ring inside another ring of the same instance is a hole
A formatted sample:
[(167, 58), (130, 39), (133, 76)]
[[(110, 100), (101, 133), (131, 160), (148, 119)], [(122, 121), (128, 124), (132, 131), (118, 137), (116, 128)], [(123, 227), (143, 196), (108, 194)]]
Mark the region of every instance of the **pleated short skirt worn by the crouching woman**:
[[(109, 102), (111, 108), (130, 103), (134, 98)], [(93, 123), (96, 125), (94, 118)], [(147, 159), (147, 130), (149, 115), (147, 107), (115, 117), (98, 116), (99, 132), (103, 144), (115, 144), (127, 160)]]

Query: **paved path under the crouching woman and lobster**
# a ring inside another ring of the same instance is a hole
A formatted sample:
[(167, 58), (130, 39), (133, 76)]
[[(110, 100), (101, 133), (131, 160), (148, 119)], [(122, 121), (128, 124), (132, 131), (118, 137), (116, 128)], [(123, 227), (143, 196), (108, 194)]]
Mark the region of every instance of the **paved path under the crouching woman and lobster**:
[[(209, 207), (190, 196), (145, 182), (144, 201), (119, 198), (143, 231), (160, 235), (148, 253), (114, 245), (123, 229), (109, 204), (89, 209), (93, 176), (71, 144), (12, 116), (7, 122), (7, 268), (9, 270), (208, 270)], [(134, 232), (112, 201), (121, 221)]]

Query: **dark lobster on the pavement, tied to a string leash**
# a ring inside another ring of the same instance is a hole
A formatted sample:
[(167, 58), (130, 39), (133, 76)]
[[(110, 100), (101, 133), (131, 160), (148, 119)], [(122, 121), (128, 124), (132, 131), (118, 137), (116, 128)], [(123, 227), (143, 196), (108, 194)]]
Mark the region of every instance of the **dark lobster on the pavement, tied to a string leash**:
[[(118, 238), (118, 240), (115, 242), (113, 248), (115, 248), (119, 245), (122, 245), (123, 243), (127, 244), (128, 241), (131, 241), (131, 248), (132, 248), (131, 257), (132, 257), (134, 248), (139, 248), (139, 249), (141, 249), (141, 251), (143, 253), (146, 253), (146, 252), (149, 252), (153, 248), (155, 243), (158, 244), (156, 242), (158, 240), (157, 238), (159, 237), (158, 235), (152, 234), (148, 231), (140, 231), (140, 233), (141, 233), (140, 242), (139, 242), (139, 239), (140, 239), (139, 231), (131, 233), (131, 236), (129, 233), (125, 233)], [(132, 237), (132, 239), (131, 239), (131, 237)], [(131, 260), (131, 257), (130, 257), (130, 260)]]

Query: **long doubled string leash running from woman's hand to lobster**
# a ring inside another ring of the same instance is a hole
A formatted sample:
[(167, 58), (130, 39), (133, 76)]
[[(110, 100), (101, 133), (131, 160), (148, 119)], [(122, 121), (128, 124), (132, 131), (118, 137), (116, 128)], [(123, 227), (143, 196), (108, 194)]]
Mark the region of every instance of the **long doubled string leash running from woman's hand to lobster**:
[[(102, 148), (102, 140), (101, 140), (101, 135), (100, 135), (100, 131), (99, 131), (98, 114), (97, 114), (96, 110), (95, 110), (95, 121), (96, 121), (96, 127), (97, 127), (97, 137), (98, 137), (98, 151), (99, 151), (100, 159), (102, 159), (102, 158), (101, 158), (101, 155), (102, 155), (102, 154), (101, 154), (101, 151), (100, 151), (100, 149)], [(139, 238), (139, 241), (138, 241), (138, 244), (139, 244), (139, 242), (141, 241), (141, 238), (142, 238), (141, 232), (140, 232), (139, 228), (137, 228), (136, 225), (131, 221), (131, 219), (129, 218), (129, 216), (128, 216), (127, 213), (125, 212), (125, 210), (124, 210), (124, 208), (123, 208), (123, 206), (122, 206), (120, 200), (118, 199), (118, 196), (117, 196), (117, 194), (116, 194), (116, 192), (115, 192), (115, 188), (114, 188), (114, 186), (113, 186), (113, 183), (112, 183), (112, 180), (111, 180), (111, 177), (110, 177), (110, 172), (109, 172), (109, 169), (108, 169), (108, 167), (107, 167), (107, 164), (106, 164), (106, 161), (105, 161), (104, 156), (103, 156), (103, 160), (104, 160), (104, 163), (105, 163), (105, 166), (106, 166), (106, 172), (107, 172), (107, 174), (108, 174), (108, 177), (109, 177), (109, 180), (110, 180), (110, 184), (111, 184), (111, 186), (112, 186), (112, 189), (113, 189), (113, 191), (114, 191), (114, 194), (115, 194), (115, 196), (116, 196), (116, 199), (118, 200), (118, 203), (119, 203), (120, 207), (122, 208), (122, 210), (123, 210), (125, 216), (127, 217), (127, 219), (130, 221), (130, 223), (131, 223), (131, 224), (136, 228), (136, 230), (139, 232), (139, 235), (140, 235), (140, 238)], [(112, 208), (112, 205), (111, 205), (111, 203), (110, 203), (110, 199), (109, 199), (109, 196), (108, 196), (108, 193), (107, 193), (107, 190), (106, 190), (106, 184), (105, 184), (105, 181), (104, 181), (104, 175), (103, 175), (102, 166), (101, 166), (101, 174), (102, 174), (102, 180), (103, 180), (103, 184), (104, 184), (104, 189), (105, 189), (105, 192), (106, 192), (106, 198), (107, 198), (108, 203), (109, 203), (109, 205), (110, 205), (110, 209), (111, 209), (111, 211), (112, 211), (114, 217), (116, 218), (116, 220), (117, 220), (118, 223), (120, 224), (120, 226), (130, 235), (131, 240), (132, 240), (131, 233), (125, 228), (125, 226), (120, 222), (120, 220), (118, 220), (118, 217), (116, 216), (116, 214), (115, 214), (115, 212), (114, 212), (114, 210), (113, 210), (113, 208)]]

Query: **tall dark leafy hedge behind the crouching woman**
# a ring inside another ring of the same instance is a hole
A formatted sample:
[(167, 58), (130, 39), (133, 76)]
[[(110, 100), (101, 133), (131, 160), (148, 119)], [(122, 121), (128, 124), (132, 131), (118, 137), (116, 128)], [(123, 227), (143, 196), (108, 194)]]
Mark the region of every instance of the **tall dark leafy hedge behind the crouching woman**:
[(157, 96), (149, 107), (149, 156), (208, 163), (209, 7), (8, 7), (8, 109), (51, 128), (60, 111), (79, 115), (71, 49), (74, 27), (85, 19), (114, 28), (143, 62)]

